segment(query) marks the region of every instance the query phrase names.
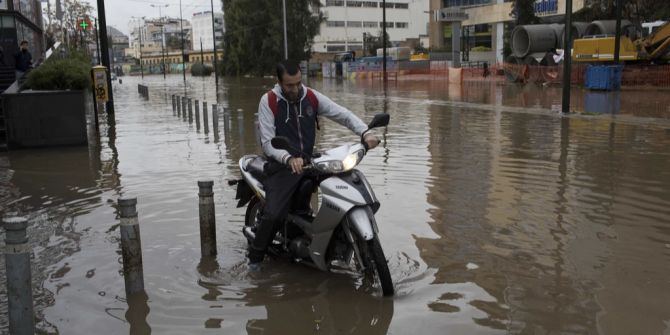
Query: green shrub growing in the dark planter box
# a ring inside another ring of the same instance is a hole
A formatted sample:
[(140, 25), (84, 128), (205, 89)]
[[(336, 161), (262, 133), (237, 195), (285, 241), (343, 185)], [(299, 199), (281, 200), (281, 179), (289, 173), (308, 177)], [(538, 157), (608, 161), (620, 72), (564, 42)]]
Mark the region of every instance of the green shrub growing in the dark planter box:
[(91, 66), (86, 56), (49, 59), (30, 71), (27, 88), (34, 90), (83, 90), (91, 87)]

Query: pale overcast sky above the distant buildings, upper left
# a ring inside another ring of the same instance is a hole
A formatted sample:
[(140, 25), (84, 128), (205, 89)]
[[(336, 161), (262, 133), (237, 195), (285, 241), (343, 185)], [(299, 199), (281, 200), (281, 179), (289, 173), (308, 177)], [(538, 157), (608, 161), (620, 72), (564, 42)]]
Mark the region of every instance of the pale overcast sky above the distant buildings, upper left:
[[(94, 8), (97, 9), (96, 0), (88, 1)], [(221, 0), (214, 1), (214, 11), (221, 12)], [(56, 0), (50, 0), (52, 4)], [(210, 0), (181, 0), (182, 16), (184, 19), (191, 20), (193, 13), (208, 11), (211, 9)], [(132, 16), (149, 18), (158, 17), (158, 8), (151, 7), (151, 5), (168, 5), (166, 8), (161, 8), (163, 16), (170, 16), (174, 18), (179, 17), (179, 0), (105, 0), (105, 13), (107, 17), (107, 25), (113, 26), (124, 34), (128, 35), (128, 21)], [(42, 4), (46, 6), (46, 4)], [(97, 16), (97, 13), (95, 13)]]

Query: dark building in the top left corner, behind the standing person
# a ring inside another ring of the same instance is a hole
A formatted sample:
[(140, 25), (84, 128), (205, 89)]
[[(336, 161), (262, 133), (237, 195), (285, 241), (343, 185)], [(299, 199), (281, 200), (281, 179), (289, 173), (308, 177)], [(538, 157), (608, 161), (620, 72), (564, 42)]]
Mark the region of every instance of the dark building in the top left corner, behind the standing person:
[(0, 47), (4, 64), (14, 66), (19, 43), (28, 41), (28, 50), (37, 62), (44, 55), (42, 6), (39, 0), (0, 1)]

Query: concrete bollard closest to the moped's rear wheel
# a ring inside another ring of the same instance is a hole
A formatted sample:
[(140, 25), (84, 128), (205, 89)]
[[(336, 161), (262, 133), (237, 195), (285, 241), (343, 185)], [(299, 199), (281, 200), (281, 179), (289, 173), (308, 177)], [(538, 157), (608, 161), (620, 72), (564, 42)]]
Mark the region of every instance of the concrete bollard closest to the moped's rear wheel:
[(214, 182), (198, 181), (200, 209), (200, 253), (202, 257), (216, 256), (216, 218), (214, 216)]

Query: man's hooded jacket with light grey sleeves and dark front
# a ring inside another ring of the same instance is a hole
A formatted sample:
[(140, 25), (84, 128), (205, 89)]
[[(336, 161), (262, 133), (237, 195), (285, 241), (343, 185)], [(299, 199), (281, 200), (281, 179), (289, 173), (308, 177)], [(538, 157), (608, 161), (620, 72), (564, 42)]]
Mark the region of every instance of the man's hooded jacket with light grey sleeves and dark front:
[[(307, 99), (307, 90), (311, 90), (318, 100), (318, 110), (314, 111)], [(261, 97), (258, 105), (258, 126), (263, 152), (269, 158), (287, 164), (291, 154), (286, 150), (276, 149), (270, 143), (275, 136), (286, 136), (293, 147), (311, 155), (316, 140), (316, 117), (325, 116), (360, 136), (368, 129), (350, 110), (336, 104), (320, 92), (302, 85), (298, 103), (289, 103), (276, 84), (272, 89), (277, 99), (276, 114), (272, 112), (268, 93)]]

